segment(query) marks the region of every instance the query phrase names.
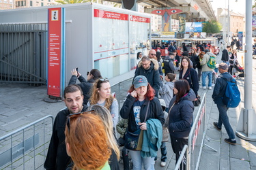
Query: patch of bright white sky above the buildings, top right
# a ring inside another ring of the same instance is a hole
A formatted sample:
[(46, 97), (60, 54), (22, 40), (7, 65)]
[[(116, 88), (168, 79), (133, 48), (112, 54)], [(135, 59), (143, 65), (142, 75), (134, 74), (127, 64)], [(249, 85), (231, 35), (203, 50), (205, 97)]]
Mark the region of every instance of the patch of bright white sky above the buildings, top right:
[[(240, 13), (240, 14), (245, 14), (245, 1), (246, 0), (210, 0), (210, 3), (212, 4), (212, 8), (214, 12), (216, 13), (217, 8), (228, 8), (228, 1), (229, 1), (229, 10)], [(252, 0), (254, 1), (254, 0)]]

